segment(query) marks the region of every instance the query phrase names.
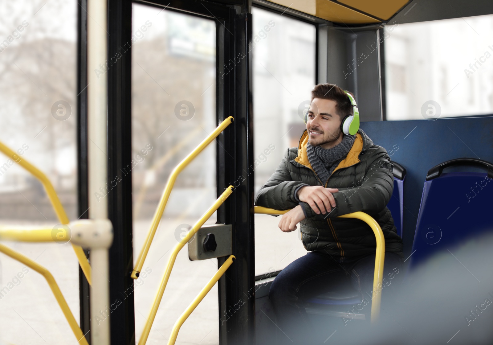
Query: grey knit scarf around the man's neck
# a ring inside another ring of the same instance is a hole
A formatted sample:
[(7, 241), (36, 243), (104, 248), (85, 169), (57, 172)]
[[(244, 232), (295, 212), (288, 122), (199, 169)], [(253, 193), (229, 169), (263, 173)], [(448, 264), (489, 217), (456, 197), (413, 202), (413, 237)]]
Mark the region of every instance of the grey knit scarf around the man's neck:
[(308, 160), (322, 183), (328, 180), (337, 165), (349, 153), (355, 138), (355, 135), (343, 134), (342, 141), (328, 150), (321, 148), (320, 145), (307, 144)]

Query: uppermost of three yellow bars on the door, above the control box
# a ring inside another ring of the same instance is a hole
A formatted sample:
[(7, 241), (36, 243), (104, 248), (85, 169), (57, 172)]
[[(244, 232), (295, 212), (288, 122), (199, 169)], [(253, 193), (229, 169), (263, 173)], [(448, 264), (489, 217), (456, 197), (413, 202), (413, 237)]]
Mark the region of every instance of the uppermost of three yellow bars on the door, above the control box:
[(154, 218), (152, 219), (151, 227), (149, 232), (147, 233), (147, 237), (145, 238), (144, 245), (141, 249), (141, 253), (139, 254), (139, 258), (136, 261), (135, 268), (130, 275), (132, 278), (137, 279), (139, 277), (139, 273), (142, 270), (142, 266), (144, 265), (145, 257), (147, 256), (147, 252), (152, 243), (152, 239), (154, 238), (154, 234), (156, 233), (159, 222), (161, 221), (161, 217), (163, 216), (164, 209), (166, 207), (166, 203), (168, 202), (168, 198), (170, 197), (171, 190), (175, 185), (176, 177), (178, 174), (199, 154), (201, 153), (227, 126), (233, 123), (233, 116), (227, 117), (224, 121), (221, 122), (219, 126), (199, 144), (191, 153), (189, 153), (178, 165), (176, 165), (175, 169), (171, 172), (170, 177), (168, 178), (168, 182), (166, 183), (166, 187), (164, 188), (163, 195), (161, 196), (161, 200), (159, 201), (159, 205), (157, 206), (156, 213), (154, 214)]

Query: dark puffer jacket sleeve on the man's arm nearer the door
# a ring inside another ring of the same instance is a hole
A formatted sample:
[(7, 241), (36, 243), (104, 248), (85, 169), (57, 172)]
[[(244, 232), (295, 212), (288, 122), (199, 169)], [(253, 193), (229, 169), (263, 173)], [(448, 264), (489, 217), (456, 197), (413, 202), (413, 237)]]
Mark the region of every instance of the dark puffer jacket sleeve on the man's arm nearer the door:
[(294, 193), (299, 187), (308, 185), (291, 179), (289, 164), (288, 149), (276, 171), (258, 191), (255, 205), (275, 210), (287, 210), (298, 205), (299, 201), (296, 201)]

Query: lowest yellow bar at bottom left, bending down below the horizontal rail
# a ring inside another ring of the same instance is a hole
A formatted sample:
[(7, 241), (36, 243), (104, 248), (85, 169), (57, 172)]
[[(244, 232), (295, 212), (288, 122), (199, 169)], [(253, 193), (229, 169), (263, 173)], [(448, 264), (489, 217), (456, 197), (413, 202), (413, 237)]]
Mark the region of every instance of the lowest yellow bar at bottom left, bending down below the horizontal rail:
[(4, 246), (3, 244), (0, 244), (0, 252), (2, 252), (5, 255), (8, 255), (14, 260), (23, 263), (27, 267), (34, 269), (36, 272), (41, 274), (46, 279), (48, 285), (51, 288), (51, 291), (53, 291), (53, 295), (55, 295), (58, 305), (60, 306), (60, 308), (62, 308), (65, 318), (69, 322), (70, 328), (72, 329), (72, 332), (75, 335), (77, 342), (82, 345), (88, 345), (87, 340), (84, 337), (84, 334), (80, 330), (77, 321), (75, 320), (72, 312), (70, 311), (67, 301), (65, 301), (65, 298), (62, 295), (62, 291), (60, 291), (60, 288), (58, 287), (57, 282), (55, 281), (55, 278), (53, 278), (53, 275), (51, 275), (50, 271), (42, 267), (41, 265), (36, 264), (33, 260), (29, 259), (28, 257), (25, 257), (24, 255), (17, 253), (12, 249)]

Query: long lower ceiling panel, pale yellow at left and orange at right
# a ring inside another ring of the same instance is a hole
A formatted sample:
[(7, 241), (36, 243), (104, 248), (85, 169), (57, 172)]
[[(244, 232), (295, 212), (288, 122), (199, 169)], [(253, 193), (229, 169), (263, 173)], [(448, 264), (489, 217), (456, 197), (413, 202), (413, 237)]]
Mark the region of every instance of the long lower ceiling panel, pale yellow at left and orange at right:
[[(334, 23), (371, 24), (379, 20), (329, 0), (269, 0), (300, 12), (308, 13)], [(363, 1), (363, 0), (362, 0)], [(400, 8), (400, 7), (399, 7)], [(368, 12), (368, 11), (365, 11)], [(370, 13), (370, 12), (368, 12)]]

